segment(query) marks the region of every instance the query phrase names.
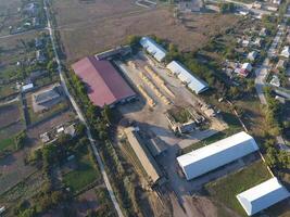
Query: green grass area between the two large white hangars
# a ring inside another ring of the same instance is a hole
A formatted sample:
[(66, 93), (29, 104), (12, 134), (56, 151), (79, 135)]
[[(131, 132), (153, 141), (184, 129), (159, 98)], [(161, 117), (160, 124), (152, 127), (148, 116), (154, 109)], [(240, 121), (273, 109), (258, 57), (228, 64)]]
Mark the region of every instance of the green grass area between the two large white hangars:
[(214, 201), (223, 203), (241, 216), (247, 216), (236, 195), (269, 178), (272, 176), (266, 166), (262, 161), (257, 161), (240, 171), (207, 183), (205, 189)]

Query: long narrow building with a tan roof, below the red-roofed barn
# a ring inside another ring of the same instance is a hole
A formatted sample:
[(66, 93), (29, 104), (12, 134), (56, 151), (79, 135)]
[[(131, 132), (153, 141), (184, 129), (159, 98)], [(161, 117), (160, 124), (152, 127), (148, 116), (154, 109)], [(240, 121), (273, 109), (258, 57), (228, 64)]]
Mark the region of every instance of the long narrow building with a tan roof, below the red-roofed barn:
[(153, 183), (155, 183), (161, 178), (161, 170), (147, 146), (141, 143), (141, 138), (138, 135), (138, 129), (129, 127), (125, 129), (125, 133), (130, 143), (130, 146), (139, 158), (147, 175), (151, 178)]

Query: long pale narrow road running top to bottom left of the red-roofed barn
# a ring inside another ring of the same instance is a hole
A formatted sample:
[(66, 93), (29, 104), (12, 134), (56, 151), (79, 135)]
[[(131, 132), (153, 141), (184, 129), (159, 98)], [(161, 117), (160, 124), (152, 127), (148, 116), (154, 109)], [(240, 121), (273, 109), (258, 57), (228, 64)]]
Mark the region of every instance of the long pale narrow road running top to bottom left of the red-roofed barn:
[(70, 91), (68, 91), (68, 89), (67, 89), (67, 87), (66, 87), (65, 79), (64, 79), (64, 75), (63, 75), (63, 71), (62, 71), (61, 61), (60, 61), (60, 59), (59, 59), (59, 54), (58, 54), (58, 52), (56, 52), (56, 42), (55, 42), (55, 40), (54, 40), (54, 35), (53, 35), (54, 33), (53, 33), (53, 30), (52, 30), (52, 28), (51, 28), (51, 20), (50, 20), (50, 14), (49, 14), (49, 11), (48, 11), (48, 8), (47, 8), (47, 0), (43, 0), (43, 4), (45, 4), (45, 11), (46, 11), (47, 20), (48, 20), (48, 21), (47, 21), (47, 22), (48, 22), (48, 24), (47, 24), (47, 25), (48, 25), (48, 30), (49, 30), (49, 34), (50, 34), (50, 39), (51, 39), (51, 43), (52, 43), (52, 48), (53, 48), (53, 52), (54, 52), (54, 56), (55, 56), (55, 60), (56, 60), (56, 62), (58, 62), (58, 71), (59, 71), (59, 75), (60, 75), (60, 79), (61, 79), (61, 85), (62, 85), (62, 87), (63, 87), (63, 89), (64, 89), (65, 94), (67, 95), (67, 98), (70, 99), (72, 105), (74, 106), (74, 108), (75, 108), (75, 111), (76, 111), (76, 113), (77, 113), (77, 115), (78, 115), (79, 120), (80, 120), (81, 123), (84, 123), (85, 126), (86, 126), (86, 128), (87, 128), (87, 136), (88, 136), (88, 138), (89, 138), (89, 141), (90, 141), (91, 148), (92, 148), (92, 150), (93, 150), (94, 156), (96, 156), (96, 158), (97, 158), (98, 165), (99, 165), (99, 167), (100, 167), (100, 170), (101, 170), (101, 174), (102, 174), (102, 177), (103, 177), (105, 187), (106, 187), (106, 189), (108, 189), (108, 191), (109, 191), (111, 201), (113, 202), (113, 205), (114, 205), (114, 207), (115, 207), (115, 209), (116, 209), (116, 212), (117, 212), (117, 215), (118, 215), (119, 217), (124, 217), (124, 215), (123, 215), (123, 213), (122, 213), (122, 210), (121, 210), (121, 207), (119, 207), (119, 205), (118, 205), (118, 203), (117, 203), (117, 200), (116, 200), (116, 197), (115, 197), (115, 194), (114, 194), (114, 192), (113, 192), (113, 189), (112, 189), (112, 186), (111, 186), (111, 183), (110, 183), (110, 180), (109, 180), (109, 178), (108, 178), (108, 175), (106, 175), (106, 173), (105, 173), (104, 165), (103, 165), (103, 163), (102, 163), (102, 159), (101, 159), (101, 157), (100, 157), (100, 154), (99, 154), (99, 152), (98, 152), (98, 150), (97, 150), (96, 141), (93, 140), (93, 138), (92, 138), (92, 136), (91, 136), (90, 128), (89, 128), (89, 126), (88, 126), (88, 124), (87, 124), (87, 122), (86, 122), (86, 119), (85, 119), (85, 116), (83, 115), (80, 108), (78, 107), (76, 101), (74, 100), (74, 98), (72, 97), (72, 94), (70, 93)]

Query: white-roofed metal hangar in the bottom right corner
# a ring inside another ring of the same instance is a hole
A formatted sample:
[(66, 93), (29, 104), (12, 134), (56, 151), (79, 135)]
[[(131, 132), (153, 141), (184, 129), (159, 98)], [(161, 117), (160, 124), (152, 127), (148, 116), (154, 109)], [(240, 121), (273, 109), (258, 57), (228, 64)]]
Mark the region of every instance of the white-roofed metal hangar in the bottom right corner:
[(290, 193), (276, 177), (237, 195), (248, 216), (252, 216), (287, 199)]

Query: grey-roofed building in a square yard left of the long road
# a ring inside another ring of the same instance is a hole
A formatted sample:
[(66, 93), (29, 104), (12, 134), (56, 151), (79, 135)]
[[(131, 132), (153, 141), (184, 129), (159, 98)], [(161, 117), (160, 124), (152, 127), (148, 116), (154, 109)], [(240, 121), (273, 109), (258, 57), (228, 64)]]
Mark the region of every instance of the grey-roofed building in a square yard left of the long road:
[(60, 92), (60, 85), (53, 85), (45, 90), (40, 90), (33, 94), (34, 112), (42, 112), (51, 108), (63, 100)]

